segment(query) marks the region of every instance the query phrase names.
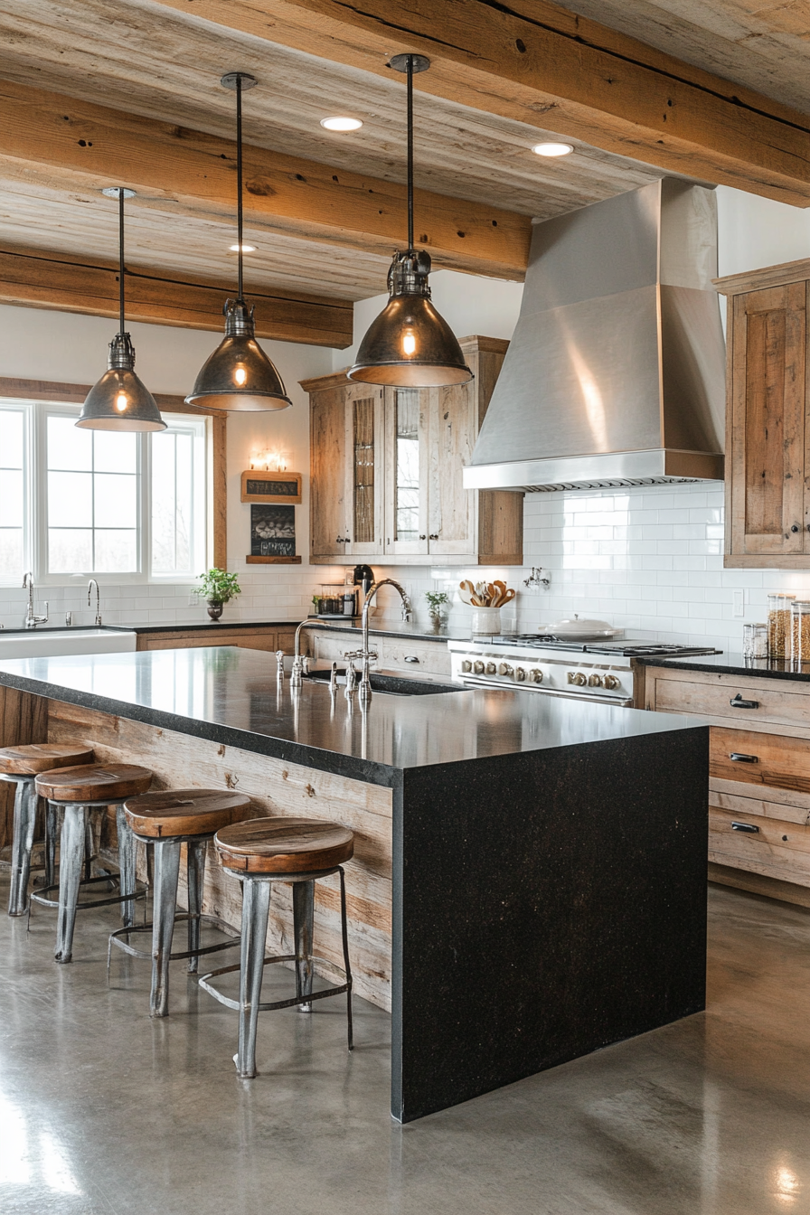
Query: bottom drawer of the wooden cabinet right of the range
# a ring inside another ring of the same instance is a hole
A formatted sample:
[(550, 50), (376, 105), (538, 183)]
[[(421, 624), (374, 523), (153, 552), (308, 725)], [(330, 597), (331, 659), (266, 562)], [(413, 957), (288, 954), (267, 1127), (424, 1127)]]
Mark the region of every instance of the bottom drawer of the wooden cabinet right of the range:
[(810, 827), (709, 807), (709, 860), (810, 886)]

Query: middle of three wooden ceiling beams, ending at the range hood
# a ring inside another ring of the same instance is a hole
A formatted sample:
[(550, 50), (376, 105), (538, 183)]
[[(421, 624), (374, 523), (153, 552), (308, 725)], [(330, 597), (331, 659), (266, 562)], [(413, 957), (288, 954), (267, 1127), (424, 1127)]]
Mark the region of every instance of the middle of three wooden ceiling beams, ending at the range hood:
[[(81, 188), (125, 185), (129, 207), (159, 207), (233, 227), (236, 145), (202, 131), (0, 81), (0, 169), (77, 174)], [(315, 160), (244, 148), (245, 222), (364, 252), (390, 253), (406, 234), (404, 186)], [(483, 203), (417, 191), (417, 238), (436, 266), (521, 281), (531, 219)], [(384, 283), (380, 283), (384, 290)]]

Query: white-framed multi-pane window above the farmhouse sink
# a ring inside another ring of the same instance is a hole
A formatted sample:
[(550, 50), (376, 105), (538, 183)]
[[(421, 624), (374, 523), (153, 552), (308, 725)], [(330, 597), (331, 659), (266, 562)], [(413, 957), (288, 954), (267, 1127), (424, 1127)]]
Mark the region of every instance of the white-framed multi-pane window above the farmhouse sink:
[(208, 419), (157, 434), (78, 430), (77, 406), (0, 400), (0, 583), (26, 570), (193, 582), (206, 564)]

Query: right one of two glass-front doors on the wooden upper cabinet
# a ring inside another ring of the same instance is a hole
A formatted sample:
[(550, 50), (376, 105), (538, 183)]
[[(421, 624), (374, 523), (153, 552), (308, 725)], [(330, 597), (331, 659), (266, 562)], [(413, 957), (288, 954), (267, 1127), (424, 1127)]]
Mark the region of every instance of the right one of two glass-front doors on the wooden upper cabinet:
[(423, 389), (385, 390), (385, 552), (427, 553), (427, 425)]

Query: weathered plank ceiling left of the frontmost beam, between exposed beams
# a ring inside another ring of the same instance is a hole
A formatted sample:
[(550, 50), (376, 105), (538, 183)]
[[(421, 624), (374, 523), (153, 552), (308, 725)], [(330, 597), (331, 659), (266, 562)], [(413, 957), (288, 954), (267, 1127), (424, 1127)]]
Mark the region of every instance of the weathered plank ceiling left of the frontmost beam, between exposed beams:
[[(402, 78), (380, 79), (259, 38), (174, 13), (149, 0), (32, 0), (0, 4), (0, 75), (72, 97), (233, 136), (233, 95), (220, 86), (243, 69), (260, 84), (245, 95), (248, 143), (356, 173), (404, 180)], [(417, 182), (437, 193), (548, 217), (661, 176), (638, 162), (578, 145), (560, 160), (534, 156), (554, 137), (417, 92)], [(335, 135), (321, 118), (356, 115), (361, 131)], [(104, 182), (106, 183), (106, 182)], [(114, 256), (108, 200), (89, 181), (22, 176), (0, 165), (4, 238), (27, 247)], [(254, 217), (255, 220), (255, 217)], [(403, 216), (404, 228), (404, 216)], [(384, 289), (387, 256), (336, 250), (248, 224), (249, 272), (265, 286), (361, 299)], [(152, 200), (128, 211), (128, 258), (136, 265), (227, 278), (233, 255), (205, 219), (172, 222)]]

